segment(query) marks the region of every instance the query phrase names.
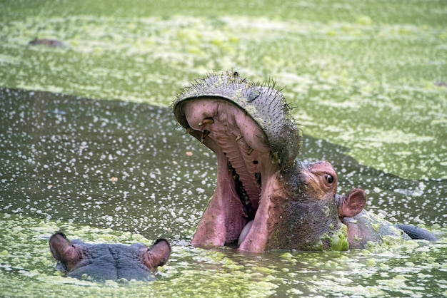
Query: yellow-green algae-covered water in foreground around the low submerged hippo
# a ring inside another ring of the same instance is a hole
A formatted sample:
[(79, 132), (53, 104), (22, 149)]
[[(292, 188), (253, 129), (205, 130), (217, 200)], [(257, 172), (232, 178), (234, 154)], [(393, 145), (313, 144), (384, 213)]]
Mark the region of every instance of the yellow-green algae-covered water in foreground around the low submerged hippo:
[(148, 242), (142, 235), (0, 213), (0, 290), (3, 297), (433, 297), (446, 295), (447, 242), (384, 241), (351, 252), (242, 254), (173, 243), (155, 282), (98, 284), (63, 277), (54, 269), (49, 236), (64, 230), (86, 242)]

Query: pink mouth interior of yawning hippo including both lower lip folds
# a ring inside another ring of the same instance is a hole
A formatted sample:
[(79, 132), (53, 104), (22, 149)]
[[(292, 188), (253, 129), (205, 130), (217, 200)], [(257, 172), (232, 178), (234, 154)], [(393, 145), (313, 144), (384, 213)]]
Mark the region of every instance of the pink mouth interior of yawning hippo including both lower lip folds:
[(187, 101), (189, 133), (216, 153), (217, 184), (192, 245), (231, 245), (248, 222), (240, 250), (262, 252), (274, 219), (272, 200), (286, 197), (266, 134), (246, 111), (216, 98)]

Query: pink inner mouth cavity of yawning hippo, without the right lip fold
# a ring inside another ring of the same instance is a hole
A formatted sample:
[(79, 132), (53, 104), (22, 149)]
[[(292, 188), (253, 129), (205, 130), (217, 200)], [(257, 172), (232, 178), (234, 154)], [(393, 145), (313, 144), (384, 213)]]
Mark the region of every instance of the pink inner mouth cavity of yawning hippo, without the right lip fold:
[[(237, 242), (243, 227), (256, 217), (263, 180), (276, 173), (278, 160), (263, 130), (233, 104), (203, 98), (184, 103), (183, 111), (189, 133), (213, 150), (218, 160), (216, 190), (207, 210), (216, 219), (213, 225), (219, 237), (212, 244)], [(199, 230), (193, 242), (208, 242), (209, 229), (204, 232), (201, 236)]]

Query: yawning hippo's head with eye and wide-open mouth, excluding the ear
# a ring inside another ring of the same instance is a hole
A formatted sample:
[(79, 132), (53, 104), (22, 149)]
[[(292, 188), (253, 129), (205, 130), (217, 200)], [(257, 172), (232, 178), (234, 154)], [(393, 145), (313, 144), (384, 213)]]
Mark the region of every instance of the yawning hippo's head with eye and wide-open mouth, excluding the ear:
[(279, 91), (236, 72), (214, 73), (185, 88), (173, 108), (186, 132), (217, 157), (216, 189), (192, 245), (348, 249), (335, 171), (296, 159), (301, 131)]

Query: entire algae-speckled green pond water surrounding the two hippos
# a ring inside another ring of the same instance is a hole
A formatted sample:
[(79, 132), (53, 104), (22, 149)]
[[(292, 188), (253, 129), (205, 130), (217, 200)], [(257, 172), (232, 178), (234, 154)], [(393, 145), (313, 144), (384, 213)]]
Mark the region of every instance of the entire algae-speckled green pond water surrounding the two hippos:
[[(445, 1), (1, 2), (0, 296), (446, 296), (446, 15)], [(35, 36), (65, 46), (29, 46)], [(438, 242), (189, 246), (216, 160), (167, 107), (188, 81), (230, 68), (283, 88), (301, 159), (333, 163), (339, 192), (362, 187), (368, 210)], [(156, 282), (79, 282), (54, 269), (58, 229), (163, 236), (173, 254)]]

